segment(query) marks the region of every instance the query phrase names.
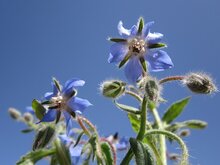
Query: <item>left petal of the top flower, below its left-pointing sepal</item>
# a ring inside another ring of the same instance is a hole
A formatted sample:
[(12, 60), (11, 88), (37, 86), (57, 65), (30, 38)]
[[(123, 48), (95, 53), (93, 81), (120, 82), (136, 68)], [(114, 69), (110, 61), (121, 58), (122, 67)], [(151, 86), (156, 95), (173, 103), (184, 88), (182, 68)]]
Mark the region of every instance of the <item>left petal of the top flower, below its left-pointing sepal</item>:
[(115, 43), (110, 48), (110, 54), (108, 58), (109, 63), (118, 63), (124, 59), (128, 52), (127, 44)]

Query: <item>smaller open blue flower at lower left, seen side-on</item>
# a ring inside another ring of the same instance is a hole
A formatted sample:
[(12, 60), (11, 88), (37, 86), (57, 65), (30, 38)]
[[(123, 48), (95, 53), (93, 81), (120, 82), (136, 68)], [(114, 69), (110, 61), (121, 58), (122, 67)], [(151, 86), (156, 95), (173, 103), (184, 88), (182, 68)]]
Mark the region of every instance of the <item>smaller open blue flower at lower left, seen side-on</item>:
[(68, 80), (62, 88), (59, 82), (53, 79), (53, 92), (47, 92), (45, 94), (46, 101), (43, 102), (48, 106), (48, 111), (40, 122), (51, 122), (56, 119), (57, 123), (63, 114), (67, 130), (72, 128), (71, 116), (75, 118), (76, 113), (82, 114), (85, 108), (92, 105), (88, 100), (76, 97), (76, 88), (84, 84), (85, 81), (73, 78)]

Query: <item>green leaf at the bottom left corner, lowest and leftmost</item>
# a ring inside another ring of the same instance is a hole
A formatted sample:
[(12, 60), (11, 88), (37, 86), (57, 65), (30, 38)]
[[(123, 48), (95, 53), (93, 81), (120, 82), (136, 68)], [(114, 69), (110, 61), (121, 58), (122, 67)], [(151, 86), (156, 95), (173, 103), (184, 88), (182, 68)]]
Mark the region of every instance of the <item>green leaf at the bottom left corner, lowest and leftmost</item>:
[(16, 163), (16, 165), (34, 165), (38, 160), (53, 155), (55, 153), (55, 150), (49, 149), (40, 149), (37, 151), (31, 151), (27, 153), (25, 156), (21, 157), (21, 159)]

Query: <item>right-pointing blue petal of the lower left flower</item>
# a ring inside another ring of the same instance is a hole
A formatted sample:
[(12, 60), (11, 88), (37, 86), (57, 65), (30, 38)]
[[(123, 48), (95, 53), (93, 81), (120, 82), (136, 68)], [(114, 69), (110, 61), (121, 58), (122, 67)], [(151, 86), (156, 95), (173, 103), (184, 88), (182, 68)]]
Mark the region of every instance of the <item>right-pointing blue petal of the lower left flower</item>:
[(73, 111), (78, 111), (80, 113), (83, 112), (84, 109), (86, 109), (88, 106), (92, 105), (88, 100), (82, 99), (79, 97), (72, 97), (68, 105), (72, 108)]

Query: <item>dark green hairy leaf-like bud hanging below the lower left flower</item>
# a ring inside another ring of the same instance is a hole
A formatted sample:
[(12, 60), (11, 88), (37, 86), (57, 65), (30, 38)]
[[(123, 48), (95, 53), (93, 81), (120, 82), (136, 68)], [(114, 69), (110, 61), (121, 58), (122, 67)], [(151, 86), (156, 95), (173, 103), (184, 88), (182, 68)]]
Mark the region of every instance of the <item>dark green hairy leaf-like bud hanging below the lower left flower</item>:
[(49, 144), (54, 134), (55, 130), (51, 126), (41, 128), (35, 137), (32, 149), (37, 150), (40, 148), (44, 148), (47, 144)]

